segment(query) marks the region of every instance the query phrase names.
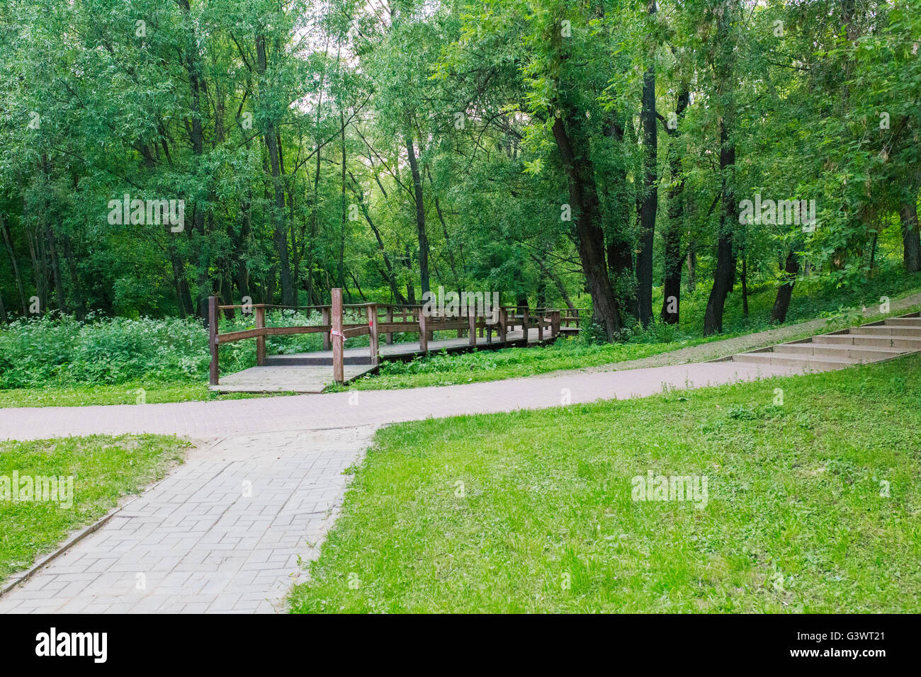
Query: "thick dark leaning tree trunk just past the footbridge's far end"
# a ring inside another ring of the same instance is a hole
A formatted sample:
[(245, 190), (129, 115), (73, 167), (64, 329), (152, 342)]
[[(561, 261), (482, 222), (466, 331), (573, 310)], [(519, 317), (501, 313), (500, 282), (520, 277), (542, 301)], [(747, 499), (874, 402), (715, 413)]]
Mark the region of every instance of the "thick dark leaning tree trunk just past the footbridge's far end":
[(589, 158), (588, 143), (580, 143), (579, 124), (577, 113), (571, 114), (567, 123), (557, 117), (554, 120), (554, 139), (563, 158), (569, 201), (577, 214), (578, 254), (589, 285), (592, 319), (604, 329), (608, 341), (613, 341), (623, 325), (604, 261), (604, 231), (600, 228), (595, 168)]

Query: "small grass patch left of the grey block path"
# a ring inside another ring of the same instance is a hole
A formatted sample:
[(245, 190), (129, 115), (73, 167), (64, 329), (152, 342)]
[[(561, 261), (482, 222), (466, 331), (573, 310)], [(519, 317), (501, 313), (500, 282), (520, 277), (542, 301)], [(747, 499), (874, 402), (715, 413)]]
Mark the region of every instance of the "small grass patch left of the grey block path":
[(162, 435), (0, 442), (0, 476), (73, 477), (70, 508), (61, 505), (69, 501), (0, 500), (0, 581), (163, 477), (188, 446)]

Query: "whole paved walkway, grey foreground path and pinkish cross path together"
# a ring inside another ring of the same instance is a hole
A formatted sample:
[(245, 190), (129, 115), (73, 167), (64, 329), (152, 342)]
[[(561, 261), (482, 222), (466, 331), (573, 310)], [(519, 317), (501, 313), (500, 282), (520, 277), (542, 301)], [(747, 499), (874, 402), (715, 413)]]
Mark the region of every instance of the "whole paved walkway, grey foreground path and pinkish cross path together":
[(793, 373), (710, 363), (564, 372), (444, 388), (0, 409), (0, 439), (176, 433), (216, 440), (99, 531), (0, 597), (0, 612), (273, 612), (383, 424), (642, 397)]

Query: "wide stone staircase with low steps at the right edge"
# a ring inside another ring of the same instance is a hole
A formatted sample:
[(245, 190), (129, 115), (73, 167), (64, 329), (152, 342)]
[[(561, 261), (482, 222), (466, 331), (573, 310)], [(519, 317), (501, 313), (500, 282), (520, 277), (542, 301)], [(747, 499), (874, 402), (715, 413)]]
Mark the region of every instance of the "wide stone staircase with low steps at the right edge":
[(829, 371), (881, 362), (919, 351), (921, 313), (915, 312), (714, 361), (794, 367), (802, 368), (804, 372)]

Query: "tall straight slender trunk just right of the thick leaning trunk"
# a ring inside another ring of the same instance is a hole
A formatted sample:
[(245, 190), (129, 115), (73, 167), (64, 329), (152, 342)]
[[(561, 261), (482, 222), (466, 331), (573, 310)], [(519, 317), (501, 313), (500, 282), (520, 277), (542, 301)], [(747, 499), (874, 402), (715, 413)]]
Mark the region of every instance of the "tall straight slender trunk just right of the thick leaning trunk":
[[(647, 4), (647, 14), (656, 13), (655, 0)], [(652, 321), (652, 247), (656, 229), (656, 210), (659, 206), (657, 189), (658, 138), (656, 121), (656, 65), (649, 64), (643, 76), (643, 203), (639, 217), (639, 254), (636, 257), (636, 296), (639, 321), (647, 327)]]

